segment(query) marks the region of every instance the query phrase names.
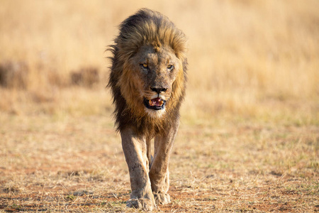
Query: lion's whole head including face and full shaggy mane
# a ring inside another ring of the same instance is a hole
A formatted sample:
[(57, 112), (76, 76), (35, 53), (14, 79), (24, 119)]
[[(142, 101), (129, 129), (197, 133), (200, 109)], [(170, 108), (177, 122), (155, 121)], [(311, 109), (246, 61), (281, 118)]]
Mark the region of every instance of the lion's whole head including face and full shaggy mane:
[(160, 129), (176, 120), (186, 83), (184, 33), (166, 16), (142, 9), (121, 23), (111, 52), (108, 86), (118, 129)]

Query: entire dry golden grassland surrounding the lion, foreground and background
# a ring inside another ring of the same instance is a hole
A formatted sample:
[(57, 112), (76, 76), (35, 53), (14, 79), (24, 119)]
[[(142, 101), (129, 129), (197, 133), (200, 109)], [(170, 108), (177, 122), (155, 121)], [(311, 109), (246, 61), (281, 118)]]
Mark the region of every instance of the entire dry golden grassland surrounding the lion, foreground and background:
[(105, 50), (142, 7), (189, 38), (159, 211), (319, 211), (319, 1), (0, 5), (0, 212), (138, 212)]

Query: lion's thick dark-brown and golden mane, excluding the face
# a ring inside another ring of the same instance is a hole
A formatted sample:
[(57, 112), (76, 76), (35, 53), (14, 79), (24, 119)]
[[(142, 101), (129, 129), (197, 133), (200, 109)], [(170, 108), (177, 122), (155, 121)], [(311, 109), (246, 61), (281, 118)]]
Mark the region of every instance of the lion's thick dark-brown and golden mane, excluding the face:
[[(111, 74), (108, 87), (113, 93), (113, 104), (116, 109), (117, 130), (127, 126), (135, 128), (136, 133), (155, 135), (164, 131), (179, 119), (179, 107), (184, 99), (186, 87), (186, 38), (169, 18), (149, 9), (141, 9), (135, 15), (128, 17), (120, 25), (120, 33), (109, 50)], [(166, 113), (160, 118), (152, 118), (145, 113), (142, 102), (138, 102), (138, 88), (135, 88), (130, 60), (138, 53), (142, 45), (152, 45), (155, 48), (169, 46), (181, 61), (181, 68), (172, 86), (172, 94), (167, 103)], [(124, 98), (129, 97), (129, 98)]]

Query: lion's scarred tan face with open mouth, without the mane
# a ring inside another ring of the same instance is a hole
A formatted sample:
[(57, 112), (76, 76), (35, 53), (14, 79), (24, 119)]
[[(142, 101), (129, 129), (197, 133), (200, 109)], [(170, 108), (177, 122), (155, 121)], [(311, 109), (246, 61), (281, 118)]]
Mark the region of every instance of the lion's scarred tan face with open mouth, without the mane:
[(170, 101), (181, 61), (172, 48), (144, 45), (130, 60), (140, 104), (150, 116), (162, 116)]

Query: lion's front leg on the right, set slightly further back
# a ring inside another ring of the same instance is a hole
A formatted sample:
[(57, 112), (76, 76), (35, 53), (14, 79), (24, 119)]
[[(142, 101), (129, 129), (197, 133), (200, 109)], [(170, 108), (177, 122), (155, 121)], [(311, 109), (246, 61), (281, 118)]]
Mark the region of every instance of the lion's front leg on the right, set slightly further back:
[(169, 158), (174, 145), (179, 124), (176, 124), (168, 133), (155, 137), (155, 155), (150, 168), (150, 181), (155, 202), (167, 204), (169, 194)]

